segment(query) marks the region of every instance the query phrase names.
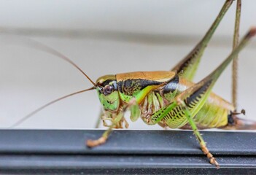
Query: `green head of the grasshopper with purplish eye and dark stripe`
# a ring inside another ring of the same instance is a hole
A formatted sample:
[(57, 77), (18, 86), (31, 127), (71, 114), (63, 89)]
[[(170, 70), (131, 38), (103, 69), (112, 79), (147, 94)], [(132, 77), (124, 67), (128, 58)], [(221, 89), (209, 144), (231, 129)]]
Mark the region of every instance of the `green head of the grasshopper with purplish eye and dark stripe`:
[(99, 77), (96, 81), (96, 90), (104, 110), (117, 112), (120, 105), (120, 98), (115, 75)]

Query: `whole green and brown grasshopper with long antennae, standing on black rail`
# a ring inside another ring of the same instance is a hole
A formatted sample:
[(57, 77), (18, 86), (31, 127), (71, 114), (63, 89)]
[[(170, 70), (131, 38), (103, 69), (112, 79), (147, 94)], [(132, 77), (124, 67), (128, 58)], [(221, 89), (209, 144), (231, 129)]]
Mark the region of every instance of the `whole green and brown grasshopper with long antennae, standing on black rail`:
[[(105, 75), (98, 78), (96, 82), (93, 82), (69, 58), (66, 58), (66, 56), (50, 47), (37, 43), (41, 50), (57, 55), (79, 69), (93, 84), (93, 88), (71, 93), (68, 96), (51, 101), (23, 117), (15, 125), (19, 125), (28, 117), (31, 117), (31, 115), (56, 101), (88, 90), (96, 90), (104, 111), (101, 120), (109, 128), (99, 139), (88, 140), (86, 142), (88, 147), (104, 144), (113, 128), (123, 128), (124, 126), (128, 128), (124, 114), (130, 110), (133, 122), (141, 117), (147, 125), (158, 124), (163, 128), (192, 129), (200, 143), (203, 154), (207, 156), (210, 163), (218, 168), (219, 163), (217, 163), (217, 160), (207, 149), (206, 142), (203, 140), (198, 128), (256, 128), (255, 123), (238, 118), (236, 116), (238, 113), (232, 104), (212, 93), (214, 83), (220, 77), (222, 71), (225, 70), (233, 58), (236, 58), (238, 52), (244, 48), (249, 39), (256, 34), (256, 28), (252, 28), (244, 36), (238, 47), (230, 53), (228, 58), (217, 69), (200, 82), (192, 82), (203, 51), (231, 4), (232, 1), (230, 0), (225, 2), (211, 28), (201, 39), (201, 42), (182, 61), (174, 66), (171, 71), (137, 71)], [(111, 124), (107, 125), (106, 120), (110, 120)]]

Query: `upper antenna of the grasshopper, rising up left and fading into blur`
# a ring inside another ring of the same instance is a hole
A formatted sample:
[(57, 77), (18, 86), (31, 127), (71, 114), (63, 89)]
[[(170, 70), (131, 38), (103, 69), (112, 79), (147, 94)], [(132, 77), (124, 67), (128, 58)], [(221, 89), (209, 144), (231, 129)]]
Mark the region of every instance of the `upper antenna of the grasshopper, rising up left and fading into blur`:
[(36, 40), (34, 40), (34, 39), (28, 39), (28, 38), (26, 38), (25, 40), (26, 40), (26, 42), (28, 42), (27, 44), (29, 45), (29, 47), (34, 47), (34, 48), (37, 49), (37, 50), (41, 50), (41, 51), (50, 53), (50, 54), (52, 54), (52, 55), (57, 56), (58, 58), (63, 59), (64, 61), (67, 61), (68, 63), (70, 63), (71, 65), (73, 65), (75, 68), (77, 68), (80, 72), (82, 72), (82, 74), (84, 74), (85, 77), (86, 77), (94, 86), (96, 86), (96, 83), (93, 82), (93, 80), (90, 79), (90, 77), (88, 77), (88, 75), (85, 74), (85, 72), (82, 71), (82, 69), (79, 68), (79, 66), (77, 66), (76, 63), (74, 63), (73, 61), (71, 61), (69, 58), (67, 58), (65, 55), (63, 55), (61, 52), (58, 52), (57, 50), (53, 49), (52, 47), (49, 47), (49, 46), (43, 44), (42, 42), (38, 42), (38, 41), (36, 41)]

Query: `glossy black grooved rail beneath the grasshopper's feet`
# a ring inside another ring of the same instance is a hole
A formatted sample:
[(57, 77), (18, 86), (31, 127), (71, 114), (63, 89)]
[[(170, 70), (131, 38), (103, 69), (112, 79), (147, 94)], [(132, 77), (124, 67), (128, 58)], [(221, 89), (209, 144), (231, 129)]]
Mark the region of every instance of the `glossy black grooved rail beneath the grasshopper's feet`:
[(256, 174), (256, 133), (203, 131), (220, 169), (192, 131), (0, 130), (0, 174)]

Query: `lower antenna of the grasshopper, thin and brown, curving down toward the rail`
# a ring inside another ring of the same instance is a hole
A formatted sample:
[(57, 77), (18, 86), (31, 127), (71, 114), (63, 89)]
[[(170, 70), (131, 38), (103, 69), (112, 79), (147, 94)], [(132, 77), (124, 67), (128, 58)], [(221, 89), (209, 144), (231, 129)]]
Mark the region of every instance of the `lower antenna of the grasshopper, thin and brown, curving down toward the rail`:
[(93, 89), (95, 89), (95, 87), (89, 88), (89, 89), (86, 89), (86, 90), (80, 90), (80, 91), (77, 91), (76, 93), (71, 93), (71, 94), (66, 95), (66, 96), (63, 96), (63, 97), (61, 97), (61, 98), (57, 98), (57, 99), (55, 99), (54, 101), (50, 101), (49, 103), (44, 104), (44, 106), (41, 106), (41, 107), (39, 107), (38, 109), (34, 110), (34, 112), (31, 112), (30, 114), (27, 114), (25, 117), (22, 117), (20, 120), (18, 120), (18, 122), (14, 123), (14, 124), (11, 125), (9, 128), (14, 128), (15, 126), (20, 125), (20, 123), (23, 123), (25, 120), (28, 120), (28, 118), (30, 118), (31, 116), (33, 116), (33, 115), (36, 114), (37, 112), (41, 111), (42, 109), (46, 108), (47, 106), (50, 106), (51, 104), (56, 103), (57, 101), (61, 101), (61, 100), (63, 100), (64, 98), (68, 98), (68, 97), (74, 96), (74, 95), (76, 95), (76, 94), (78, 94), (78, 93), (84, 93), (84, 92), (86, 92), (86, 91), (88, 91), (88, 90), (93, 90)]

